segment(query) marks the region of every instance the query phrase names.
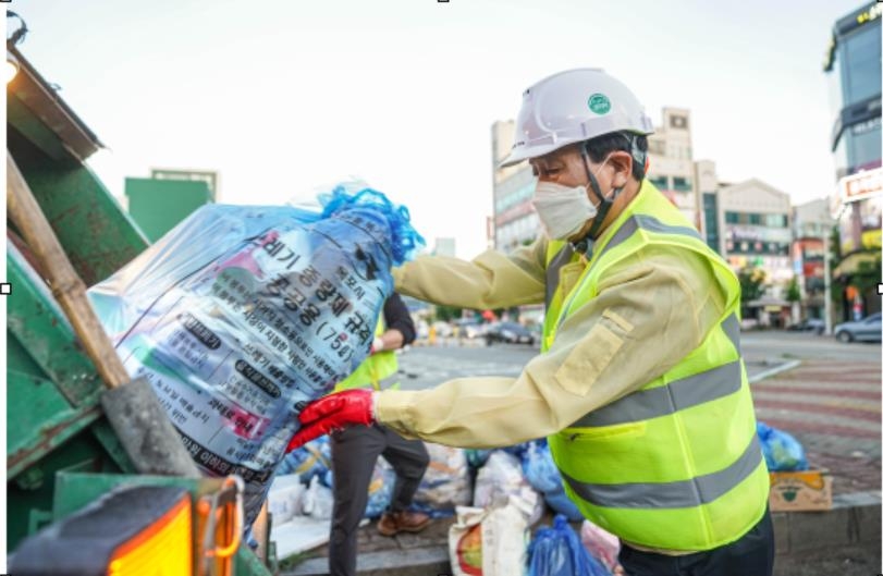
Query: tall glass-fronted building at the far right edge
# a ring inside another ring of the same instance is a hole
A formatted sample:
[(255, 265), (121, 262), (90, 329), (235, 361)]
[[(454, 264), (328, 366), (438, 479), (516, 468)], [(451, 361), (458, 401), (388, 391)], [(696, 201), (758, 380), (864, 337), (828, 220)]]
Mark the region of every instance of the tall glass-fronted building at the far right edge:
[(842, 319), (880, 310), (872, 280), (880, 281), (883, 212), (881, 15), (883, 4), (868, 2), (837, 20), (823, 64), (834, 117), (831, 150), (837, 185), (831, 206), (839, 249), (833, 275), (845, 287)]

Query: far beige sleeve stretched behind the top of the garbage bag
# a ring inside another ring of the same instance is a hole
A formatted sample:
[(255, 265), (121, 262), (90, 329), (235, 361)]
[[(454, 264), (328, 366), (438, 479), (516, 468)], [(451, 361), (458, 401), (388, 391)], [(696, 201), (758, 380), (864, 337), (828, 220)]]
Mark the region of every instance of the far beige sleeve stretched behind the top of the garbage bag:
[(420, 256), (393, 269), (395, 289), (421, 301), (462, 308), (506, 308), (545, 297), (545, 240), (503, 255), (487, 250), (474, 260)]

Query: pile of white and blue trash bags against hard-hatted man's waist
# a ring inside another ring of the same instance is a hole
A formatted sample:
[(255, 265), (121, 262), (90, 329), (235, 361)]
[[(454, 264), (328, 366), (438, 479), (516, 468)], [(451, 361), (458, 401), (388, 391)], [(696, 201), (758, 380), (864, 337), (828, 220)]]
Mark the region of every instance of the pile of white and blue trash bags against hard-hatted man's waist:
[[(471, 506), (456, 507), (457, 520), (449, 531), (454, 575), (620, 573), (618, 538), (584, 520), (567, 499), (544, 439), (465, 453), (475, 490)], [(556, 513), (552, 527), (537, 526), (545, 504)], [(581, 523), (579, 534), (568, 522)]]

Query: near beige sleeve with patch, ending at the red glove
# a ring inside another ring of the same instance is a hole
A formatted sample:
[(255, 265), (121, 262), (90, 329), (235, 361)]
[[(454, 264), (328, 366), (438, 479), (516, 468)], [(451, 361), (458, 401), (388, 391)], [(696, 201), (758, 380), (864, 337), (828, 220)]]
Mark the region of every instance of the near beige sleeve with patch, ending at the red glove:
[(505, 446), (557, 432), (643, 387), (695, 350), (724, 309), (724, 289), (698, 257), (633, 255), (596, 298), (571, 312), (554, 345), (518, 378), (458, 378), (383, 391), (378, 420), (409, 438)]

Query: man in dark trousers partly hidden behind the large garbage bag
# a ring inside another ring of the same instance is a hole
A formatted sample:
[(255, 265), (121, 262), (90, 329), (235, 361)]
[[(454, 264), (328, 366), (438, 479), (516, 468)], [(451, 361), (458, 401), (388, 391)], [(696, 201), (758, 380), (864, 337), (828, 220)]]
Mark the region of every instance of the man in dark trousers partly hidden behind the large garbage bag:
[[(371, 355), (338, 383), (335, 391), (397, 388), (391, 382), (398, 371), (395, 350), (414, 342), (414, 321), (402, 297), (393, 293), (383, 304), (377, 322)], [(383, 457), (395, 470), (390, 510), (377, 523), (383, 536), (400, 531), (417, 532), (429, 524), (429, 516), (407, 507), (429, 465), (429, 454), (420, 440), (406, 440), (395, 431), (375, 424), (354, 426), (330, 434), (331, 463), (334, 470), (334, 508), (329, 541), (329, 573), (355, 576), (358, 525), (368, 504), (368, 486), (377, 457)]]

